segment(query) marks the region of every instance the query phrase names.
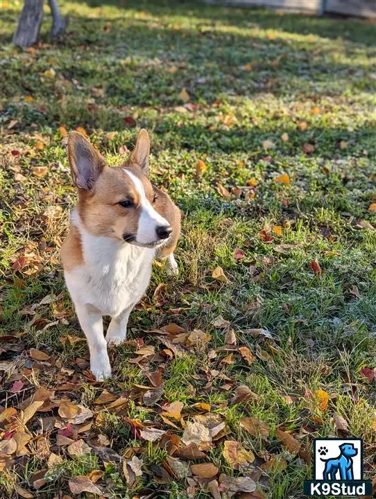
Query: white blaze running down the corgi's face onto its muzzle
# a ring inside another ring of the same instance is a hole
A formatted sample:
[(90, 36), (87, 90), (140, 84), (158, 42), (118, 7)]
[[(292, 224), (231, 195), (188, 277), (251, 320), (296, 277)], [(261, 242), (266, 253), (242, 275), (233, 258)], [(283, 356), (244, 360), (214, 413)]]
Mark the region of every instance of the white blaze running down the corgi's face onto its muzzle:
[(151, 244), (158, 240), (156, 229), (160, 226), (169, 225), (169, 222), (152, 207), (148, 198), (146, 198), (145, 189), (141, 180), (134, 173), (123, 168), (124, 172), (130, 177), (137, 194), (139, 195), (139, 207), (141, 213), (139, 216), (136, 241), (139, 244)]

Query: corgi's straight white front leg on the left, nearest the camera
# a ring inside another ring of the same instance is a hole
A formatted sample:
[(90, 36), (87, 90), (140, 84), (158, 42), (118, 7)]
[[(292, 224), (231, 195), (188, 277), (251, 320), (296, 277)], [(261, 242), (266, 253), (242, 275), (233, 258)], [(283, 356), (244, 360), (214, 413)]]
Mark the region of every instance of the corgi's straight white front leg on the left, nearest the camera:
[(98, 381), (110, 378), (111, 366), (103, 335), (101, 313), (95, 307), (86, 304), (76, 304), (76, 313), (89, 344), (90, 370)]

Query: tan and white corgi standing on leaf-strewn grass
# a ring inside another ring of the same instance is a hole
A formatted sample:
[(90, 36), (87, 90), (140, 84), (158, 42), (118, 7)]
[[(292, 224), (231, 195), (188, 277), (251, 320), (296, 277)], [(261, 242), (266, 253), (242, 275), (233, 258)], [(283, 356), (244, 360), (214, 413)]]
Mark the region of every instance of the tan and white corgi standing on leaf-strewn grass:
[[(128, 317), (148, 288), (153, 260), (166, 259), (169, 273), (178, 272), (173, 251), (180, 211), (151, 184), (149, 152), (148, 132), (141, 130), (126, 163), (110, 168), (83, 135), (68, 137), (78, 204), (61, 259), (96, 380), (111, 376), (107, 345), (126, 340)], [(103, 315), (111, 316), (105, 336)]]

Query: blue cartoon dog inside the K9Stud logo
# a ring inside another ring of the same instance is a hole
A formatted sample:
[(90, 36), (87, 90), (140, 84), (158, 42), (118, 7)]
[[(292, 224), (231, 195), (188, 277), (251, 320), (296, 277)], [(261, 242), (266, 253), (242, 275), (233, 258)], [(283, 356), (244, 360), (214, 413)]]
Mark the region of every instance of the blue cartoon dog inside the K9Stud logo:
[[(339, 446), (339, 456), (330, 457), (329, 459), (323, 459), (320, 457), (321, 461), (325, 462), (325, 469), (323, 471), (324, 480), (354, 480), (353, 466), (354, 462), (352, 457), (356, 456), (358, 449), (354, 447), (354, 444), (342, 444)], [(318, 448), (318, 454), (320, 456), (327, 454), (327, 448)]]

